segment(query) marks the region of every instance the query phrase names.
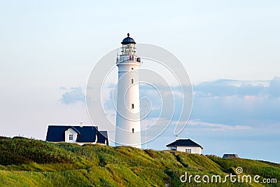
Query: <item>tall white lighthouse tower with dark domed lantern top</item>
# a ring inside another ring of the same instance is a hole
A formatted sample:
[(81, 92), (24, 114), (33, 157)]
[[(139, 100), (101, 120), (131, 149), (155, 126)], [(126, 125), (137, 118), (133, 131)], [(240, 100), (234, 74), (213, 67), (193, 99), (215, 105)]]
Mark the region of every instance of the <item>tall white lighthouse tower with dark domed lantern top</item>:
[(141, 148), (139, 67), (140, 57), (135, 41), (127, 34), (123, 39), (122, 53), (117, 57), (118, 100), (116, 117), (116, 146)]

